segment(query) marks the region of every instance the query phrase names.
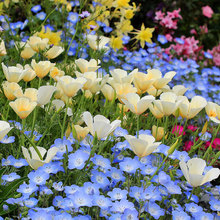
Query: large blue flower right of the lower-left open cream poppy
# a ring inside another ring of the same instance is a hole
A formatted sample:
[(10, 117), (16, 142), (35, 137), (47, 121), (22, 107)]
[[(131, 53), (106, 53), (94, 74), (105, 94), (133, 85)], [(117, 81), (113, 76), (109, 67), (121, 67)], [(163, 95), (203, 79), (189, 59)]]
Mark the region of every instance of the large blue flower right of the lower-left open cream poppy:
[(83, 169), (85, 162), (89, 159), (89, 155), (82, 150), (77, 150), (75, 153), (69, 155), (68, 168), (69, 169)]

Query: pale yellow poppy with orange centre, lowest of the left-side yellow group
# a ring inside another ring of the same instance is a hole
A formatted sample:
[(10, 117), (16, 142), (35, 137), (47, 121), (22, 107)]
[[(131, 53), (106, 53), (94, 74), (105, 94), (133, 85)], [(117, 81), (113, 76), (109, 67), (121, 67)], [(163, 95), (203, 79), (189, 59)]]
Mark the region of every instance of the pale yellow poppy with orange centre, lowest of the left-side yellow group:
[(37, 102), (32, 102), (29, 98), (18, 98), (9, 105), (21, 119), (25, 119), (37, 106)]

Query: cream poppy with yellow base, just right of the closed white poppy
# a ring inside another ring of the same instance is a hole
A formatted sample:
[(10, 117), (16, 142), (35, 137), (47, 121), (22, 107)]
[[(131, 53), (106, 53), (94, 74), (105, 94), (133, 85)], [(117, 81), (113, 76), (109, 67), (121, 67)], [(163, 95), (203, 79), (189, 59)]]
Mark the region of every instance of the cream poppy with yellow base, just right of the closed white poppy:
[(86, 83), (86, 79), (79, 77), (77, 79), (72, 78), (71, 76), (62, 76), (58, 78), (60, 86), (64, 94), (68, 97), (73, 97), (76, 93), (83, 87)]

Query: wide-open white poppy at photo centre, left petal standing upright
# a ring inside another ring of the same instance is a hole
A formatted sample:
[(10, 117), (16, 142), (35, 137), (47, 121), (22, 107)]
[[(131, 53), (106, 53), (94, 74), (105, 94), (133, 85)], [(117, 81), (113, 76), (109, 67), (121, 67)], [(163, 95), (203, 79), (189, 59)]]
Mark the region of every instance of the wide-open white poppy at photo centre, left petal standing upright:
[(103, 115), (96, 115), (93, 118), (90, 112), (84, 112), (82, 119), (88, 126), (91, 135), (97, 135), (98, 139), (106, 138), (121, 124), (120, 120), (115, 120), (110, 123)]

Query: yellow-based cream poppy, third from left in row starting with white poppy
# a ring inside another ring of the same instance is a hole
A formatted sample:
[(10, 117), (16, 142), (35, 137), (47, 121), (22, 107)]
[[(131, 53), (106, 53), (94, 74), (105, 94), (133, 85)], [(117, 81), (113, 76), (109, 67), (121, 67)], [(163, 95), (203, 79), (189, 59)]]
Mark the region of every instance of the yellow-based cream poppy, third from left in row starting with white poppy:
[(31, 66), (34, 69), (36, 75), (39, 78), (44, 78), (54, 67), (54, 63), (51, 63), (50, 61), (40, 61), (39, 63), (36, 63), (35, 60), (31, 61)]

